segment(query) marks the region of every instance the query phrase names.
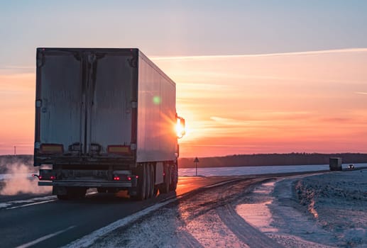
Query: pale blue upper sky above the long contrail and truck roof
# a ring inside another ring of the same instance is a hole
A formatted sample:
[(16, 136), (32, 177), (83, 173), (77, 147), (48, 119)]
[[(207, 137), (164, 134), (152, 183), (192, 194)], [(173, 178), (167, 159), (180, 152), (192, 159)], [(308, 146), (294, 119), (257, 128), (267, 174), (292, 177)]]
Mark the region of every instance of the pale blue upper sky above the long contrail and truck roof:
[(148, 56), (367, 47), (367, 1), (1, 1), (0, 67), (35, 47), (140, 47)]

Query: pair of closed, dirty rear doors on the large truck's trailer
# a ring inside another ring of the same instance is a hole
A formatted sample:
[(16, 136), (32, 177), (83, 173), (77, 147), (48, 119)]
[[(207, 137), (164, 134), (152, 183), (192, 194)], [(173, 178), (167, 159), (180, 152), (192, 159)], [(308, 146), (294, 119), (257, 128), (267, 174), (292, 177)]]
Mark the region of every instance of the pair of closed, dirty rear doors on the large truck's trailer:
[(38, 49), (35, 154), (130, 152), (130, 50)]

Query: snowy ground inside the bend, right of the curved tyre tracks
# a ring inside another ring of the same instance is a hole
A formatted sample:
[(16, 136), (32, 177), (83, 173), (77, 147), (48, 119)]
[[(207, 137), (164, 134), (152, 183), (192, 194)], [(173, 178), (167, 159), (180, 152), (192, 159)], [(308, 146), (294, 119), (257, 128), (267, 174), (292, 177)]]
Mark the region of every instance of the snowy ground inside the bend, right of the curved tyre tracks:
[(285, 247), (367, 247), (367, 170), (262, 184), (236, 210)]

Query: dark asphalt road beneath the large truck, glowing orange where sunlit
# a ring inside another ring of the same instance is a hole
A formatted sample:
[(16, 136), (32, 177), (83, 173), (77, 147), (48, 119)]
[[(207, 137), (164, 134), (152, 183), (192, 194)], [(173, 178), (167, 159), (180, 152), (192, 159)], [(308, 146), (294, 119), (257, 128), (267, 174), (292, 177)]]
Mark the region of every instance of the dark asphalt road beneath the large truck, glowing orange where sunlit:
[(177, 191), (148, 201), (120, 193), (91, 192), (84, 199), (58, 201), (50, 195), (0, 197), (0, 247), (60, 247), (155, 203), (236, 176), (180, 177)]

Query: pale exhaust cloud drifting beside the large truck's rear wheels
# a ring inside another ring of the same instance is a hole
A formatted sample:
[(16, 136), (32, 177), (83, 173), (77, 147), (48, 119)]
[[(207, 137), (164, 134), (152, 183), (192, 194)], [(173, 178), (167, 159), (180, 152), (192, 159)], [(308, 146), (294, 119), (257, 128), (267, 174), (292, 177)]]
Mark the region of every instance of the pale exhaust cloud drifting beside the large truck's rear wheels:
[[(3, 160), (3, 159), (1, 159)], [(51, 193), (51, 187), (39, 187), (38, 179), (32, 174), (38, 171), (35, 167), (27, 166), (23, 161), (3, 163), (0, 160), (1, 174), (0, 195), (13, 196), (21, 193)]]

